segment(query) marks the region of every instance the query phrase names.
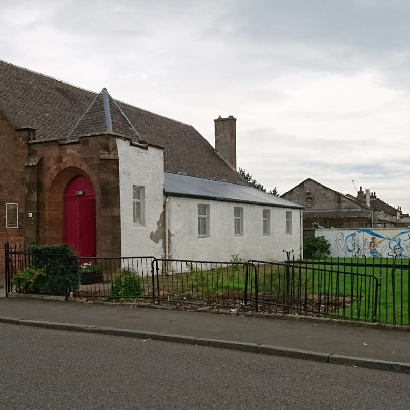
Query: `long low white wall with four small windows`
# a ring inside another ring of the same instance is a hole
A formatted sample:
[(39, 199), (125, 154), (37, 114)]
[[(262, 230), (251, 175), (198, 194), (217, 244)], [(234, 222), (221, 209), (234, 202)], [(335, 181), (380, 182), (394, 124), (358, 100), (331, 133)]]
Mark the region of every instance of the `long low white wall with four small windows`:
[[(210, 205), (210, 237), (198, 237), (198, 203)], [(234, 207), (243, 207), (244, 235), (234, 235)], [(262, 209), (271, 210), (271, 235), (262, 235)], [(283, 250), (300, 256), (300, 210), (292, 210), (293, 233), (286, 234), (286, 208), (194, 198), (169, 197), (170, 257), (229, 261), (238, 254), (244, 260), (284, 260)]]

